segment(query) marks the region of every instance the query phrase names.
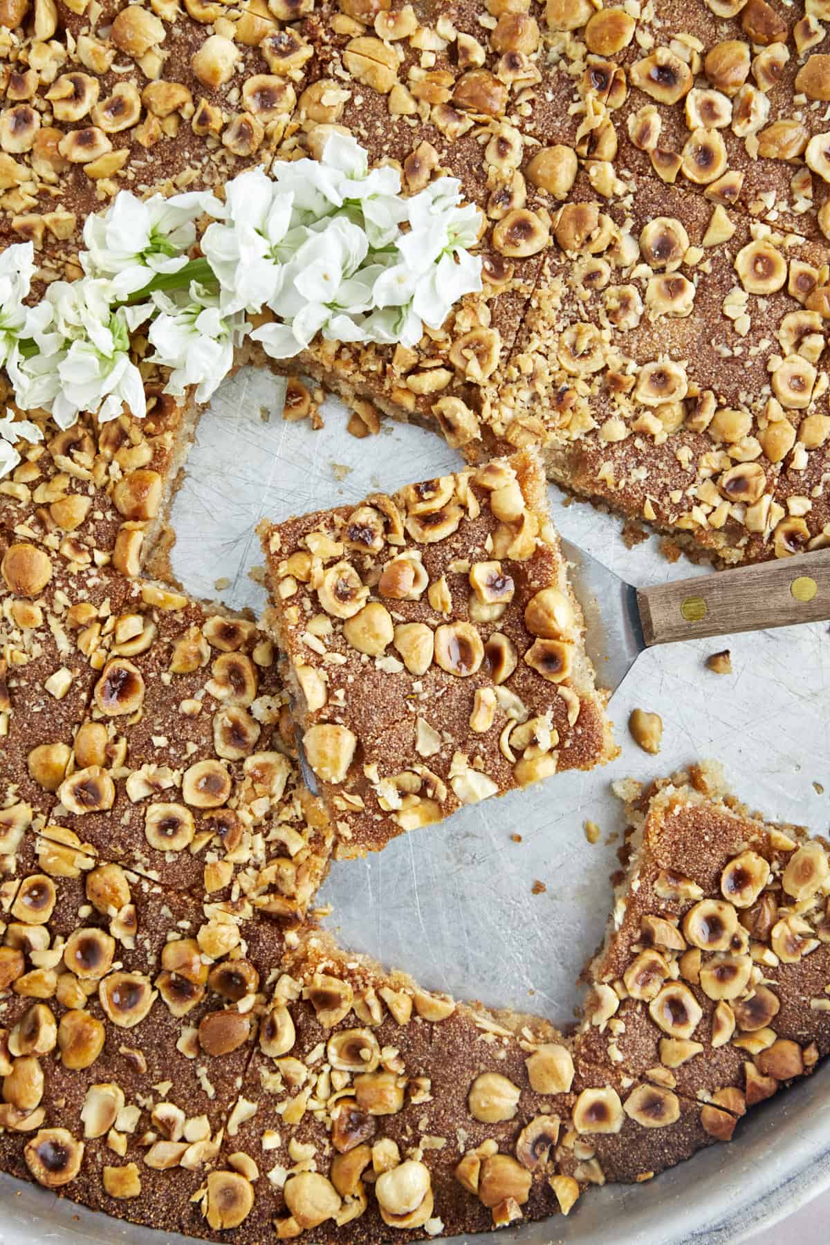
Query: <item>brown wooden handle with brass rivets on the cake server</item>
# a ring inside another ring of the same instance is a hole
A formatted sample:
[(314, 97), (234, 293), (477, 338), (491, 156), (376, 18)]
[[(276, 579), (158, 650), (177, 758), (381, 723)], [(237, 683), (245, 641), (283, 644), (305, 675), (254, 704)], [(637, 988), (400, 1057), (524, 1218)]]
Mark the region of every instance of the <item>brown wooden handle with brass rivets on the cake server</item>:
[(830, 619), (830, 549), (641, 588), (646, 644)]

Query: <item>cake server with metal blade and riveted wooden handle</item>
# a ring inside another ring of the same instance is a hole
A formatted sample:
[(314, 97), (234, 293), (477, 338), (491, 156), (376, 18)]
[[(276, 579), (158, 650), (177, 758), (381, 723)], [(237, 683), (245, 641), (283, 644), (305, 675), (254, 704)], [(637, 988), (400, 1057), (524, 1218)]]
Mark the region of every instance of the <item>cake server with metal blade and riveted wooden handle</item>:
[(597, 684), (615, 692), (645, 649), (830, 619), (830, 549), (635, 588), (561, 539)]

